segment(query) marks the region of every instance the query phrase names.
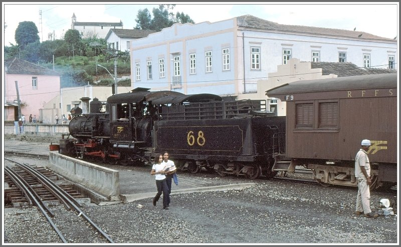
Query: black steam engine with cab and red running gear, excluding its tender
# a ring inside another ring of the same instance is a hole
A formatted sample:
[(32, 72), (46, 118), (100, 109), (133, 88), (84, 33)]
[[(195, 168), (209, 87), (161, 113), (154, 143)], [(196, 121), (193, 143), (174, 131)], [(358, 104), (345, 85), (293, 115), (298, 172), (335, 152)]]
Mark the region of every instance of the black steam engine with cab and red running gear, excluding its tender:
[(173, 91), (150, 92), (136, 88), (115, 94), (105, 104), (94, 98), (89, 113), (71, 109), (69, 132), (73, 139), (60, 140), (60, 153), (80, 159), (100, 157), (104, 162), (143, 163), (152, 150), (153, 122), (157, 107), (153, 99), (182, 95)]

